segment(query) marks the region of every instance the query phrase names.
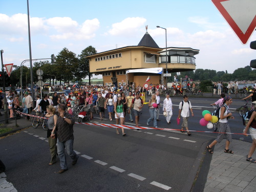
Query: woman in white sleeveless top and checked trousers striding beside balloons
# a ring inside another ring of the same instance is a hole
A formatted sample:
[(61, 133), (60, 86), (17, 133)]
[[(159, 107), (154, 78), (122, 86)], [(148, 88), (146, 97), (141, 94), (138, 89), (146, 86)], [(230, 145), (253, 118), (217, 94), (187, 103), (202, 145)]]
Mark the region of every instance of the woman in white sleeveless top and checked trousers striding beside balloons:
[(228, 119), (229, 118), (234, 119), (234, 117), (232, 116), (232, 113), (229, 111), (229, 105), (231, 103), (232, 103), (232, 98), (230, 96), (226, 96), (224, 98), (223, 105), (221, 106), (221, 109), (220, 109), (220, 120), (217, 124), (218, 130), (219, 130), (218, 137), (214, 141), (212, 141), (211, 144), (206, 146), (206, 149), (210, 154), (214, 153), (211, 150), (212, 146), (216, 145), (217, 143), (220, 143), (223, 140), (224, 135), (226, 136), (226, 145), (225, 145), (224, 152), (233, 154), (233, 152), (229, 150), (229, 144), (232, 140), (232, 136), (230, 134), (231, 131), (228, 124)]

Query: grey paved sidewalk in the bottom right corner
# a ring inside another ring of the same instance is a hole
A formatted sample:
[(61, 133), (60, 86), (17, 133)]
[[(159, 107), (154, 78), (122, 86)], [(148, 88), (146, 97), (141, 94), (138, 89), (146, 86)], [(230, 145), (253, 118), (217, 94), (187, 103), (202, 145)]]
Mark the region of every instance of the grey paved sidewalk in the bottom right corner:
[(251, 143), (232, 140), (230, 150), (234, 154), (227, 154), (224, 153), (225, 142), (223, 139), (215, 145), (204, 192), (256, 192), (256, 163), (246, 161)]

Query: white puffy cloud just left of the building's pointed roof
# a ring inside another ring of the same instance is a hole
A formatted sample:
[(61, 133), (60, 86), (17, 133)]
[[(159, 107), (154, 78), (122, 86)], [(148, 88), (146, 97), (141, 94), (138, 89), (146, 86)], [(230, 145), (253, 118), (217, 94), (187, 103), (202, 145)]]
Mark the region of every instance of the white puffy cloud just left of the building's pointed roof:
[(111, 35), (133, 36), (137, 34), (139, 28), (146, 22), (142, 17), (128, 17), (120, 23), (112, 24), (112, 29), (108, 31)]

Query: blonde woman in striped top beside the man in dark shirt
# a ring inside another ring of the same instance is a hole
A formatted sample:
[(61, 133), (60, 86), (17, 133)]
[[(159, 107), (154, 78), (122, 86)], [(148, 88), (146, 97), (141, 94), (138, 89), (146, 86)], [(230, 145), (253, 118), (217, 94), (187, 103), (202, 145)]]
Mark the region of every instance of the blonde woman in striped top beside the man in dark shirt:
[[(49, 118), (47, 121), (48, 130), (47, 130), (47, 138), (50, 147), (51, 160), (49, 165), (52, 165), (57, 162), (57, 132), (56, 132), (56, 123), (57, 123), (57, 115), (55, 115), (55, 108), (52, 105), (48, 105), (46, 117)], [(51, 137), (52, 136), (52, 137)]]

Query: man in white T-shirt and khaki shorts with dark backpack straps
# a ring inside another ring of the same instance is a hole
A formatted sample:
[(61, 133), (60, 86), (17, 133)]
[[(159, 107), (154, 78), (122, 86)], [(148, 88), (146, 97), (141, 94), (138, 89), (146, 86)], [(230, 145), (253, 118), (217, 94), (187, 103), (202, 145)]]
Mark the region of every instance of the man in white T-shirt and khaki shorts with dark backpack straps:
[(185, 133), (184, 128), (186, 129), (187, 131), (187, 135), (190, 136), (191, 133), (189, 132), (188, 130), (188, 123), (187, 123), (187, 120), (188, 120), (188, 117), (189, 117), (189, 110), (192, 114), (192, 117), (194, 117), (194, 113), (193, 113), (193, 110), (192, 110), (192, 106), (191, 106), (191, 102), (188, 101), (188, 96), (184, 95), (183, 96), (183, 101), (180, 102), (179, 104), (179, 115), (178, 115), (178, 118), (180, 118), (180, 116), (182, 117), (183, 119), (183, 122), (182, 122), (182, 125), (181, 125), (181, 132), (182, 133)]

